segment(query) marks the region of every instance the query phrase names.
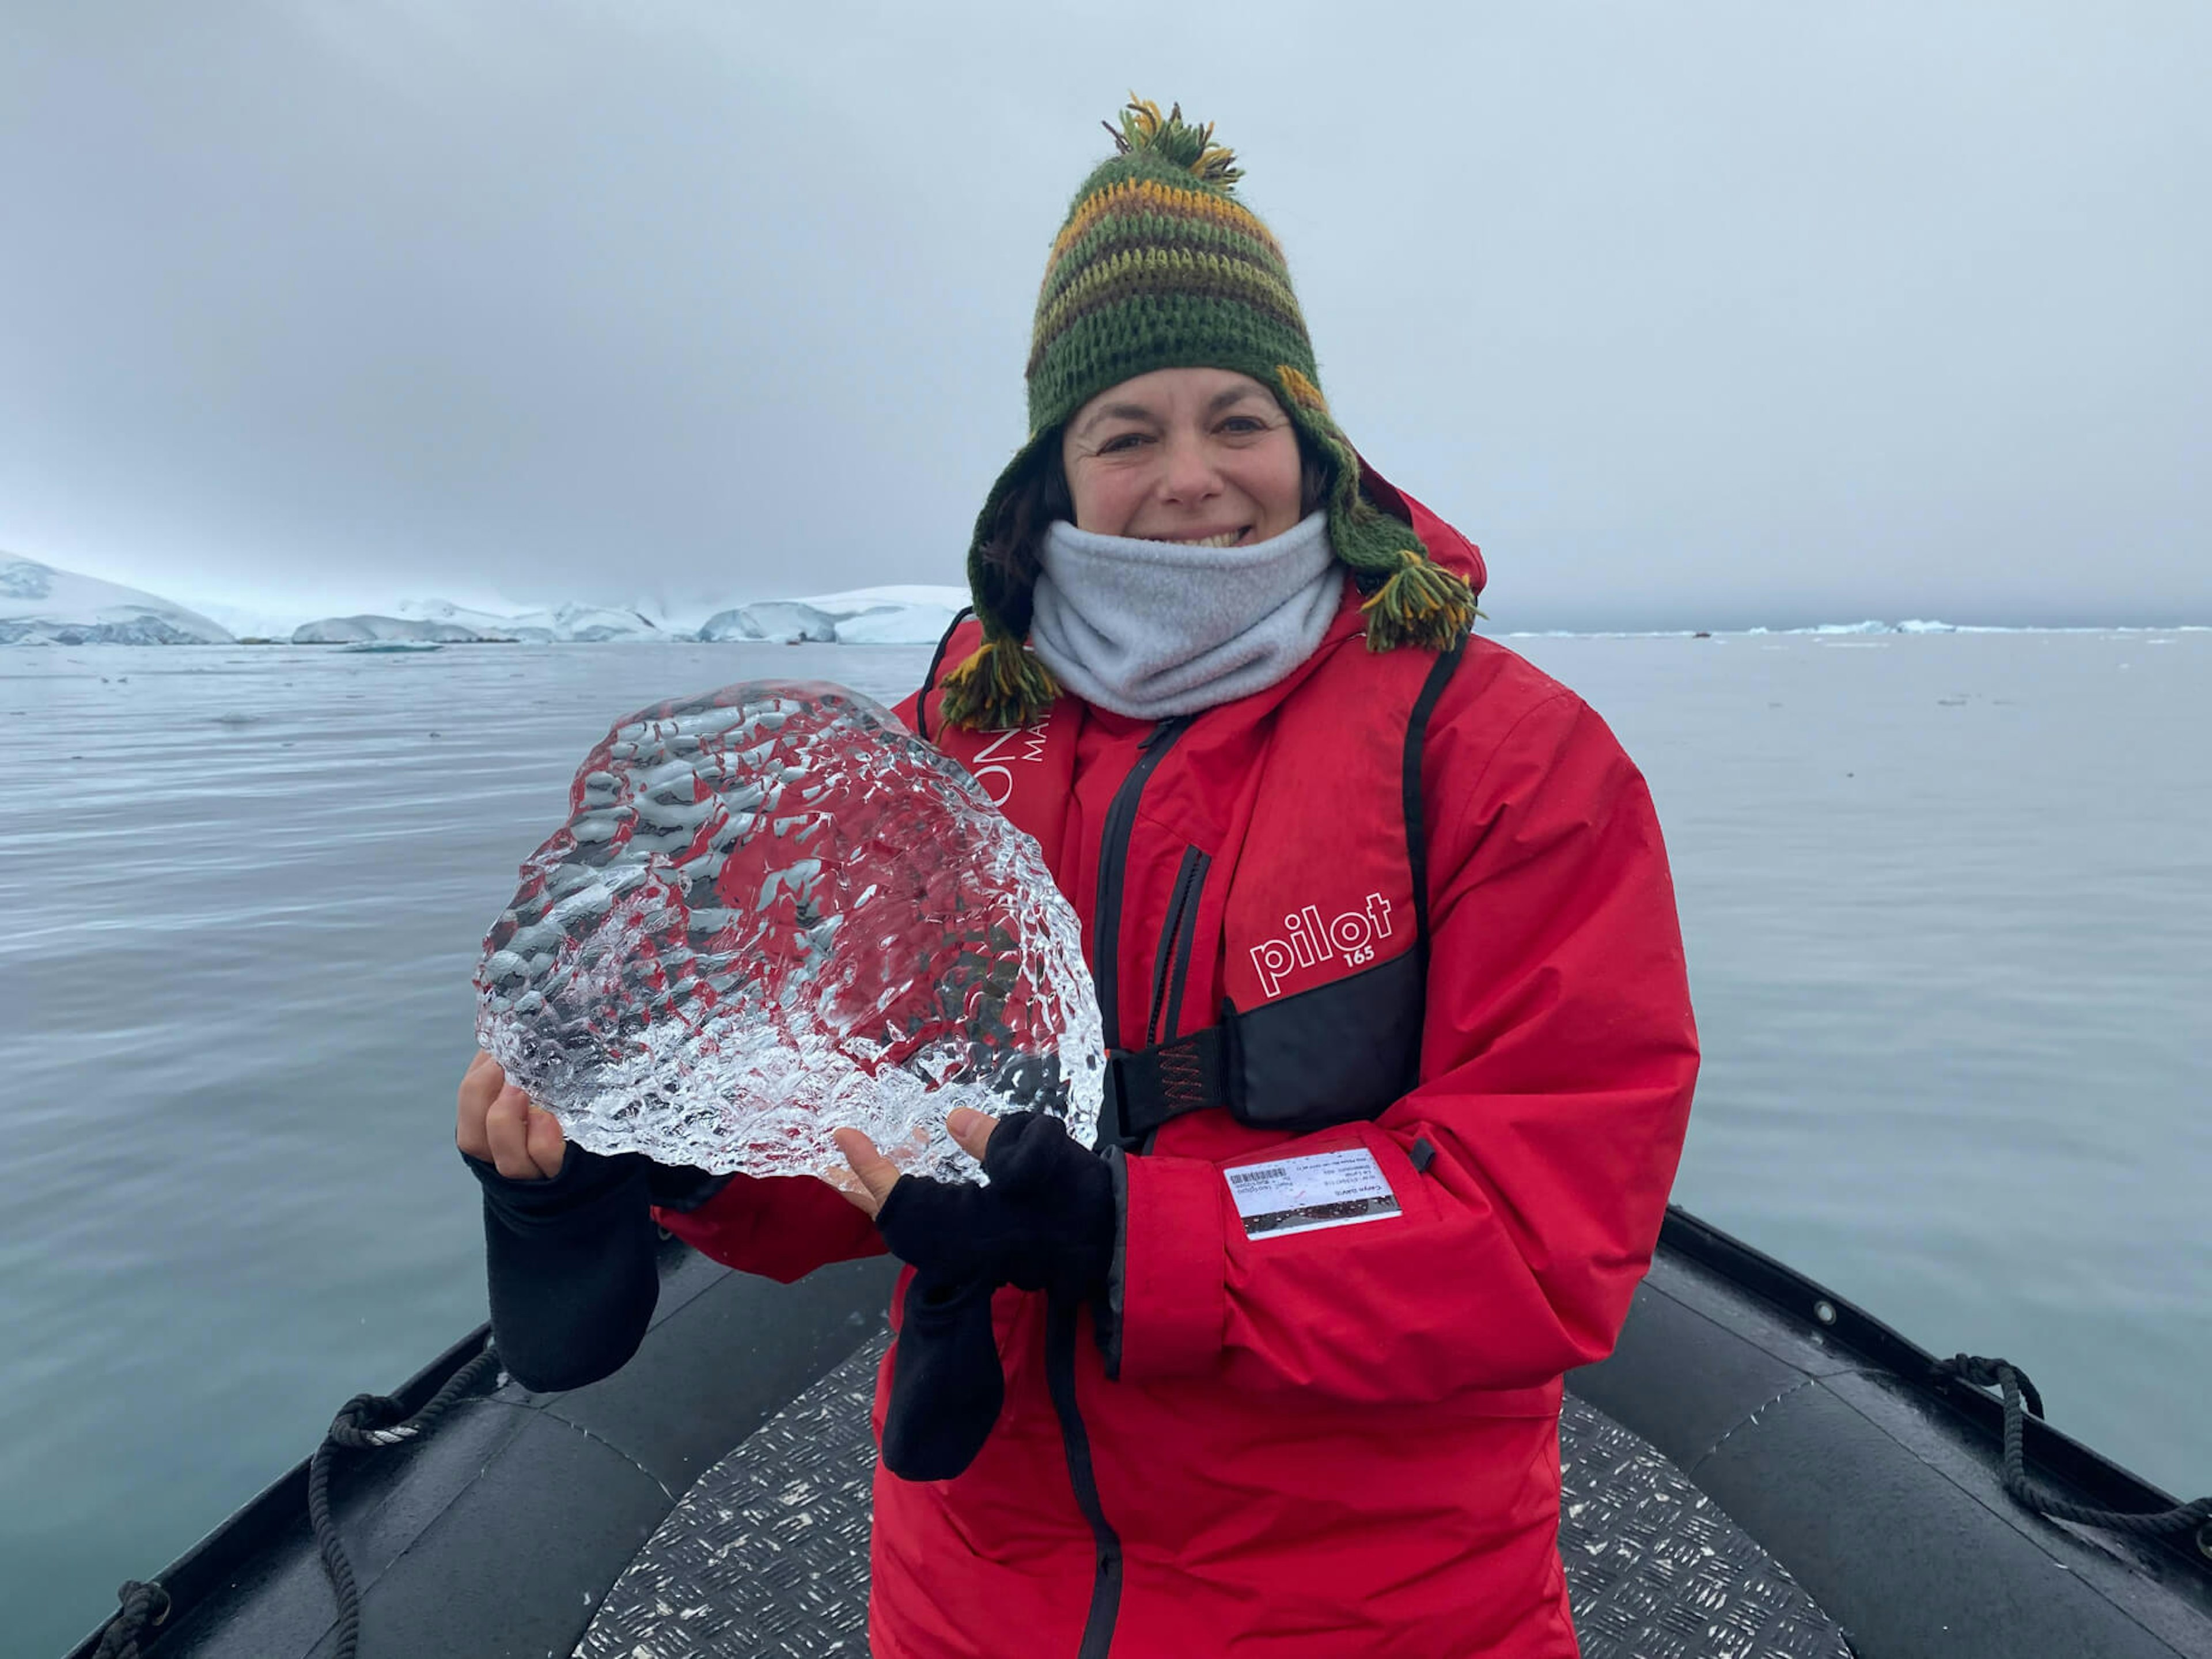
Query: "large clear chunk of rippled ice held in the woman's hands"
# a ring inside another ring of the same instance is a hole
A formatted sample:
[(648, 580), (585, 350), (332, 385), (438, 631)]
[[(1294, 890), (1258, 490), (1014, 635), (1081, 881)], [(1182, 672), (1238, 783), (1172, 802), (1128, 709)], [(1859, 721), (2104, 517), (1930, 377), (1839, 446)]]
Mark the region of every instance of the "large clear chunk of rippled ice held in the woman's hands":
[(973, 1168), (945, 1113), (1097, 1128), (1104, 1033), (1037, 843), (860, 692), (757, 681), (615, 726), (476, 969), (478, 1042), (597, 1152)]

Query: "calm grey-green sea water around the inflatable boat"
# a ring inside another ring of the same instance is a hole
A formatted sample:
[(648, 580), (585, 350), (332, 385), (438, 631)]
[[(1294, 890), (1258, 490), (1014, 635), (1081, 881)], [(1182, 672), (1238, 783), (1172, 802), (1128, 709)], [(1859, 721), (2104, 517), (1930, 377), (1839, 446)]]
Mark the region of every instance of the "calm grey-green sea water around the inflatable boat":
[[(1517, 639), (1644, 763), (1677, 1199), (2212, 1489), (2212, 633)], [(606, 726), (925, 650), (0, 653), (0, 1608), (58, 1652), (482, 1318), (469, 971)]]

